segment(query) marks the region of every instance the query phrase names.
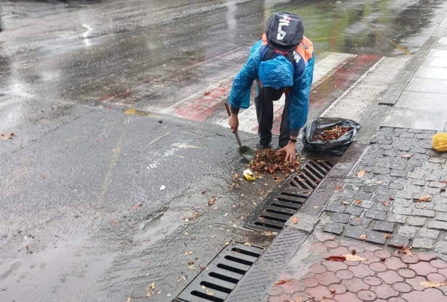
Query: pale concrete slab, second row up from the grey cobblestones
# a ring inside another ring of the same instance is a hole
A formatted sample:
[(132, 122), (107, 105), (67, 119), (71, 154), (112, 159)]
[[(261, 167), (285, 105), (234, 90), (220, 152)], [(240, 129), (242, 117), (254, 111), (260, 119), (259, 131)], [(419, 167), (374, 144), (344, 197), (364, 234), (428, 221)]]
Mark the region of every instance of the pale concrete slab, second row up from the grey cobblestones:
[(447, 111), (447, 93), (403, 91), (396, 102), (396, 107)]

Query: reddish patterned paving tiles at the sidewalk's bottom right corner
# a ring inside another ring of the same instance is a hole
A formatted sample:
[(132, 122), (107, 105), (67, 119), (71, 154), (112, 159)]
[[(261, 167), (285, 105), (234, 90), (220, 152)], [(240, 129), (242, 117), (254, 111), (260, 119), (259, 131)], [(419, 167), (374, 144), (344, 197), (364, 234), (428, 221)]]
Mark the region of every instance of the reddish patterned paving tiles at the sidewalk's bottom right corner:
[[(433, 253), (412, 256), (373, 244), (337, 239), (317, 231), (299, 256), (278, 275), (268, 302), (443, 302), (447, 286), (426, 288), (423, 281), (446, 282), (447, 262)], [(366, 260), (325, 258), (355, 253)], [(297, 254), (298, 255), (298, 254)]]

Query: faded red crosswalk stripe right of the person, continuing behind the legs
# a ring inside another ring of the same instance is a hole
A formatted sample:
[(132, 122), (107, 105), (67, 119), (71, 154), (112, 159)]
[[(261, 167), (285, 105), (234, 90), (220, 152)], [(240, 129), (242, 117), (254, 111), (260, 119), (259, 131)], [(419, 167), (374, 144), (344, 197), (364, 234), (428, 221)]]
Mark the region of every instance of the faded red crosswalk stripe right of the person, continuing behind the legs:
[[(307, 120), (319, 117), (337, 98), (364, 75), (374, 64), (380, 60), (377, 55), (358, 55), (350, 59), (329, 78), (314, 87), (310, 92), (310, 106)], [(273, 121), (273, 134), (279, 135), (281, 114), (275, 112), (277, 117)]]

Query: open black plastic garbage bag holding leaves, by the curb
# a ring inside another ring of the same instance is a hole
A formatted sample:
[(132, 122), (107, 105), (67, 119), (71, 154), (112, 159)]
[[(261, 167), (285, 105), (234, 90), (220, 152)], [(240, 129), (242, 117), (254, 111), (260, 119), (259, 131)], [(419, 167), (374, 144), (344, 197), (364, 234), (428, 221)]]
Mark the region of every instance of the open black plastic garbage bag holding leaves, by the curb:
[[(348, 127), (349, 130), (337, 139), (328, 141), (315, 139), (312, 137), (322, 133), (324, 130), (332, 129), (336, 126)], [(354, 140), (355, 134), (361, 126), (354, 121), (339, 118), (318, 118), (307, 124), (302, 131), (304, 148), (311, 152), (323, 155), (342, 155)]]

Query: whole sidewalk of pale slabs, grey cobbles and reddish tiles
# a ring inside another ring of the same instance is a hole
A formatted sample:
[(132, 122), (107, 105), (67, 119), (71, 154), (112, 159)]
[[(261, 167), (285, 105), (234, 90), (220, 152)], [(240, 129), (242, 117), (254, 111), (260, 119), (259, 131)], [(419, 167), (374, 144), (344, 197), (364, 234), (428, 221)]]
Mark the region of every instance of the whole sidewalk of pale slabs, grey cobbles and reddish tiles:
[[(446, 62), (443, 37), (264, 301), (447, 301), (447, 283), (421, 285), (447, 282), (447, 153), (431, 145), (447, 130)], [(348, 254), (366, 260), (325, 259)]]

